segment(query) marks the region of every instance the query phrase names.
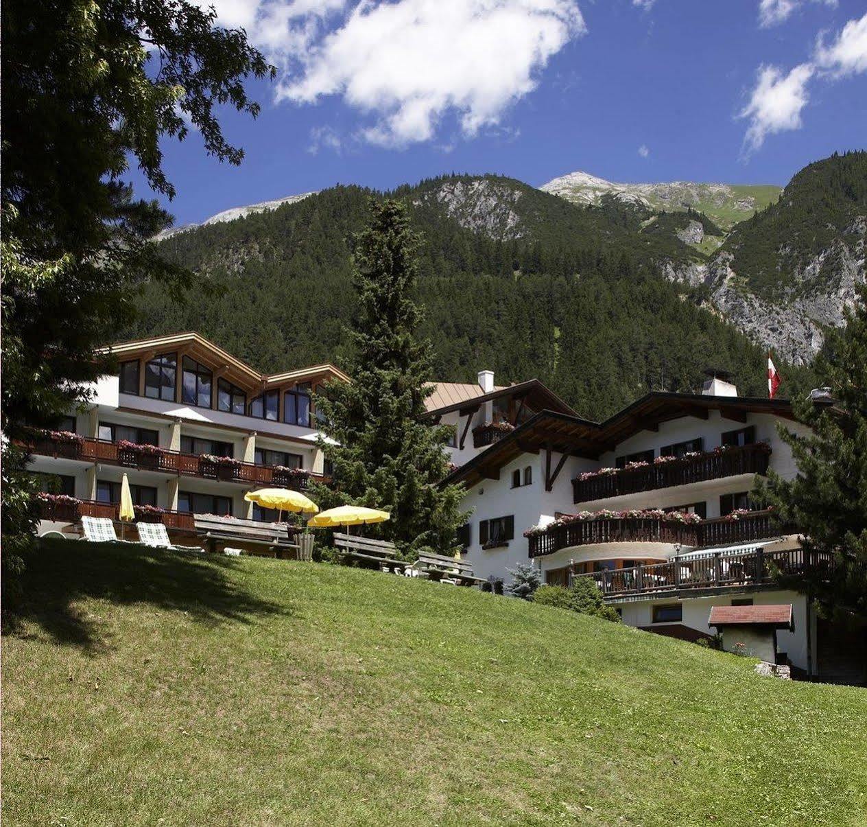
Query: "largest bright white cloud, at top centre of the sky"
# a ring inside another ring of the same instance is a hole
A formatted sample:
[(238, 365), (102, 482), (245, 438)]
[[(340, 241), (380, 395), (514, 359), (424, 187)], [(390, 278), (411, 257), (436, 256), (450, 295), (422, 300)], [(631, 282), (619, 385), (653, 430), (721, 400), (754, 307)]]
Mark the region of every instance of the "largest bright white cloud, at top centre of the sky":
[(433, 139), (448, 112), (472, 137), (584, 31), (574, 0), (362, 0), (292, 56), (277, 99), (339, 95), (372, 116), (362, 136), (383, 146)]

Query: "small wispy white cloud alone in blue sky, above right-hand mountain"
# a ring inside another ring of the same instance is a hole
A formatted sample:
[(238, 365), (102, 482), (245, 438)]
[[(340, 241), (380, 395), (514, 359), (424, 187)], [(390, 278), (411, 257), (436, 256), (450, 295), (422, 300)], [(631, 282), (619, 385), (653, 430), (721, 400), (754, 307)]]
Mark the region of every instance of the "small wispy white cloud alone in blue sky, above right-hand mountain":
[(788, 75), (776, 66), (759, 67), (759, 81), (739, 115), (750, 121), (744, 138), (748, 152), (758, 149), (767, 135), (801, 127), (801, 110), (809, 100), (806, 84), (813, 72), (810, 63), (801, 63)]

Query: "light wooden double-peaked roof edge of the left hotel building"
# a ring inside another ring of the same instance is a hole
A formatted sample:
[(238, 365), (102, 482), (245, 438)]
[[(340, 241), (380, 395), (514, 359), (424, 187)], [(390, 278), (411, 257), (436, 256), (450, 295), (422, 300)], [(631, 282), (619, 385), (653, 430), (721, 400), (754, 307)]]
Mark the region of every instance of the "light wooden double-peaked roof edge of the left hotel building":
[(111, 353), (121, 361), (129, 358), (151, 358), (170, 351), (181, 352), (220, 371), (221, 375), (248, 390), (308, 382), (319, 378), (336, 378), (349, 382), (349, 377), (333, 364), (316, 364), (283, 373), (260, 373), (251, 365), (232, 356), (210, 339), (194, 331), (120, 342), (103, 348), (103, 351)]

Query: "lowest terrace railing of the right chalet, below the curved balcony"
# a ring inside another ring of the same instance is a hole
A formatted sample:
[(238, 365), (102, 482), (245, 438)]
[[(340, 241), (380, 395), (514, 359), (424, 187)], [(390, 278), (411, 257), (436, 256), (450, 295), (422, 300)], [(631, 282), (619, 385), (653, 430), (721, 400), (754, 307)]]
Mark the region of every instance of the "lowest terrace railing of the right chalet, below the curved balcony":
[(771, 583), (775, 575), (831, 573), (834, 557), (830, 554), (806, 552), (803, 548), (766, 552), (762, 548), (738, 554), (719, 552), (675, 557), (664, 563), (632, 568), (613, 568), (590, 577), (606, 598), (630, 594), (659, 594), (688, 589), (750, 586)]

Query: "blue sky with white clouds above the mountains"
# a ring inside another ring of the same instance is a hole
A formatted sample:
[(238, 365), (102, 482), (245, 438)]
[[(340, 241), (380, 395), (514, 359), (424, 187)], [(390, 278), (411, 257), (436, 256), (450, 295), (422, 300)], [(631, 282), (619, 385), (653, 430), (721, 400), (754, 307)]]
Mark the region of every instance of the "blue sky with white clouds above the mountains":
[(212, 2), (279, 76), (221, 115), (240, 167), (164, 143), (179, 224), (448, 172), (782, 185), (867, 145), (864, 0)]

